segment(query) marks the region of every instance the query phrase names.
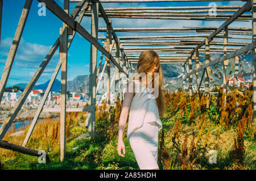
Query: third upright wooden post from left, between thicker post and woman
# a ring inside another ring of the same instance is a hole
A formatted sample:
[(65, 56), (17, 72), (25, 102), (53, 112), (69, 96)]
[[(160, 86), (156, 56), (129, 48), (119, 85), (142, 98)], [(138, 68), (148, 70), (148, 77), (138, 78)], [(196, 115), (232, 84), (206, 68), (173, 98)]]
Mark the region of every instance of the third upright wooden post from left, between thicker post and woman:
[[(112, 27), (112, 21), (109, 20), (109, 24), (107, 24), (107, 44), (106, 44), (106, 50), (110, 52), (110, 44), (112, 44), (112, 33), (111, 33), (111, 27)], [(107, 74), (108, 74), (108, 119), (110, 119), (110, 110), (111, 110), (111, 102), (110, 102), (110, 60), (108, 57), (106, 57), (107, 61)]]

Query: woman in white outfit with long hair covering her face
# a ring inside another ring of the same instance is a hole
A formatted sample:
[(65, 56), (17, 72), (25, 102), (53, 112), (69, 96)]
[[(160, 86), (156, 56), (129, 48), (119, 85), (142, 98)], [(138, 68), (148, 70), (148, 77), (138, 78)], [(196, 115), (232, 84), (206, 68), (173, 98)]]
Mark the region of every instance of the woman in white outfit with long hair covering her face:
[(158, 132), (162, 128), (159, 115), (163, 116), (166, 112), (166, 104), (158, 53), (154, 50), (142, 52), (137, 64), (137, 73), (126, 86), (119, 118), (117, 151), (118, 155), (125, 157), (123, 132), (130, 110), (127, 140), (130, 142), (139, 169), (159, 170)]

